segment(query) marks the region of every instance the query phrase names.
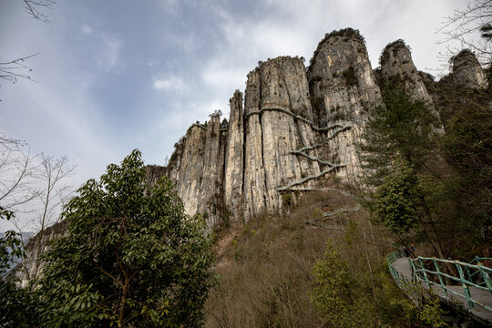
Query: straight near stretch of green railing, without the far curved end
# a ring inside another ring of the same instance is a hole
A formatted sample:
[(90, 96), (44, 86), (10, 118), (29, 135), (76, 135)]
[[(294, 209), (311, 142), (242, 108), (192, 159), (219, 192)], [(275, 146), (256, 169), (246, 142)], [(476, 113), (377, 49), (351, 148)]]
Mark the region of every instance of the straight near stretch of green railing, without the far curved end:
[[(487, 259), (482, 258), (482, 260)], [(474, 261), (477, 261), (477, 259)], [(424, 282), (427, 288), (430, 289), (431, 285), (435, 285), (441, 288), (446, 296), (452, 293), (465, 298), (470, 310), (473, 310), (475, 305), (478, 305), (487, 311), (492, 311), (492, 308), (474, 300), (470, 292), (470, 287), (475, 287), (478, 290), (490, 292), (492, 297), (492, 281), (490, 280), (492, 269), (481, 265), (480, 261), (477, 261), (477, 264), (471, 264), (457, 260), (450, 261), (419, 256), (410, 260), (410, 264), (415, 280)], [(446, 269), (443, 270), (443, 267), (446, 268), (446, 264), (450, 268), (456, 268), (457, 274), (456, 272), (446, 273)], [(449, 288), (452, 285), (461, 286), (463, 292), (456, 292)]]

